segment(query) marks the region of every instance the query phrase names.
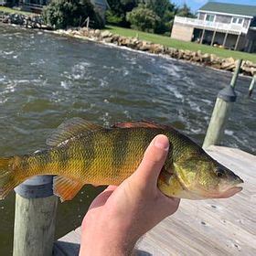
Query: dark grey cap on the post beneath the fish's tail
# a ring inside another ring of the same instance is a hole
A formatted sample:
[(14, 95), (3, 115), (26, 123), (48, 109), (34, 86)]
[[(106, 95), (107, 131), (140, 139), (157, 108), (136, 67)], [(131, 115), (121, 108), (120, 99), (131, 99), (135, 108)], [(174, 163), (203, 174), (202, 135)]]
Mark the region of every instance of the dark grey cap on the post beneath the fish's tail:
[(25, 198), (50, 197), (53, 176), (33, 176), (15, 188), (16, 193)]

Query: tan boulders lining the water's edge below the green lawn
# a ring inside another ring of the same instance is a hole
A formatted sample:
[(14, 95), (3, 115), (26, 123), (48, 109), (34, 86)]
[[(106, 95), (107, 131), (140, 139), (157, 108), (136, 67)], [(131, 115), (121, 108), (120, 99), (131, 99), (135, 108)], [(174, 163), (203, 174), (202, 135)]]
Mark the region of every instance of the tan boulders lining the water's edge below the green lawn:
[[(236, 68), (237, 60), (233, 58), (221, 59), (214, 54), (203, 54), (200, 51), (166, 48), (160, 44), (154, 44), (148, 41), (140, 40), (136, 37), (123, 37), (112, 34), (109, 30), (87, 29), (87, 28), (69, 28), (48, 31), (60, 36), (75, 37), (86, 39), (92, 42), (101, 43), (115, 48), (123, 48), (136, 52), (152, 54), (165, 59), (176, 59), (197, 66), (207, 67), (220, 71), (233, 72)], [(243, 60), (240, 75), (252, 77), (256, 74), (256, 63), (249, 60)]]

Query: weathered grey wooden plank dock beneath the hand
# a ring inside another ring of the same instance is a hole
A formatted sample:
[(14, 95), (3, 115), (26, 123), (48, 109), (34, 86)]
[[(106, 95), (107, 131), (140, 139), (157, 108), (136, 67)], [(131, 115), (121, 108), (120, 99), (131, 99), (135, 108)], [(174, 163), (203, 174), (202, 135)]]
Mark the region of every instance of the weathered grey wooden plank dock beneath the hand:
[[(208, 154), (244, 180), (228, 199), (183, 199), (176, 214), (144, 235), (137, 255), (256, 255), (256, 156), (211, 146)], [(55, 242), (54, 255), (79, 255), (80, 228)]]

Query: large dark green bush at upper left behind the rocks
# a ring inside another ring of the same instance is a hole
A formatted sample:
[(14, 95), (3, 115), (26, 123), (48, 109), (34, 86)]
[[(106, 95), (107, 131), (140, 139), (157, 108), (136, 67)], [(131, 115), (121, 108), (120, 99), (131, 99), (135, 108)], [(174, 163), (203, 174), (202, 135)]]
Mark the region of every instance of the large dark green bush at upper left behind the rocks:
[(88, 16), (93, 21), (93, 27), (104, 27), (90, 0), (53, 0), (44, 7), (42, 16), (46, 24), (56, 28), (80, 27)]

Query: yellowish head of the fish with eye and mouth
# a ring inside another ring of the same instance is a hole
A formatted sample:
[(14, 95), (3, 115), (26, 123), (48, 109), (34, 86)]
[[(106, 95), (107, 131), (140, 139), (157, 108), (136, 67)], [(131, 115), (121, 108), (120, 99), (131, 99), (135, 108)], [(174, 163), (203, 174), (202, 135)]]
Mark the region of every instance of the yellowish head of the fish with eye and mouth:
[(191, 199), (227, 198), (240, 192), (243, 180), (210, 156), (192, 156), (176, 165), (176, 176)]

